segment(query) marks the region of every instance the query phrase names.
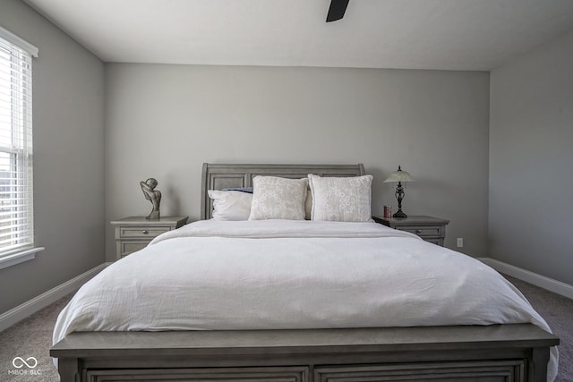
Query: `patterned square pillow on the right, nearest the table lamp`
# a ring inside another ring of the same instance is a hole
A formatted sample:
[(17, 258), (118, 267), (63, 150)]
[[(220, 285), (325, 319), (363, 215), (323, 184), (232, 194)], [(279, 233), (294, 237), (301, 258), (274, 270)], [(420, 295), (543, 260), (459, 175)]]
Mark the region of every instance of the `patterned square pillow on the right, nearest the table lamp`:
[(321, 177), (309, 174), (312, 220), (372, 221), (372, 175)]

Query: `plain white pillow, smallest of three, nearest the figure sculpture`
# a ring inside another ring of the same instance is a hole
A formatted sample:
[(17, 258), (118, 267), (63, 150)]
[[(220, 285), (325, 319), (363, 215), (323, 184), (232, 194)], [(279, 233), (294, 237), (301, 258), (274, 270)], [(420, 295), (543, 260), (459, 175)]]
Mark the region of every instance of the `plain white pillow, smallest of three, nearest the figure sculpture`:
[(252, 194), (241, 191), (209, 190), (213, 199), (213, 219), (247, 220), (251, 214)]

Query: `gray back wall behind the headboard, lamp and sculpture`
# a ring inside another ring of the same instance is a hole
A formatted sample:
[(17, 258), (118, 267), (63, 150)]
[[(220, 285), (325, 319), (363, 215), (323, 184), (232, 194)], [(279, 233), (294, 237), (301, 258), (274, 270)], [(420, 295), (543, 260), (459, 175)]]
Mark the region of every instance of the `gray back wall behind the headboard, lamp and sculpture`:
[(139, 181), (158, 179), (164, 216), (200, 216), (201, 164), (359, 163), (373, 207), (415, 177), (404, 209), (451, 220), (446, 243), (487, 254), (489, 73), (106, 64), (110, 220), (144, 216)]

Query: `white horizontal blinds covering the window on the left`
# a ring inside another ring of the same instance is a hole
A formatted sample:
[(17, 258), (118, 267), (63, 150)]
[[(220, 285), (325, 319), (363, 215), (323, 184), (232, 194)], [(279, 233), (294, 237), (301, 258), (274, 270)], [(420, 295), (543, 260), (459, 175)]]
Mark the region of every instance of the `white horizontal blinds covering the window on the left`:
[(0, 258), (34, 244), (30, 47), (0, 29)]

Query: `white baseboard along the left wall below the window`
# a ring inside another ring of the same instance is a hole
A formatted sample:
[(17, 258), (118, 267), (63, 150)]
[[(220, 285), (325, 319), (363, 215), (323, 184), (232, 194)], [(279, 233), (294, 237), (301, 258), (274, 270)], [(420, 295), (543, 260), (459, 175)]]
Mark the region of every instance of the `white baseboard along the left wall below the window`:
[(80, 276), (73, 277), (72, 280), (66, 281), (64, 284), (60, 284), (46, 293), (42, 293), (39, 296), (34, 297), (30, 301), (26, 301), (23, 304), (18, 305), (12, 310), (8, 310), (3, 314), (0, 314), (0, 332), (8, 327), (12, 327), (18, 321), (29, 317), (38, 310), (47, 307), (49, 304), (58, 301), (66, 294), (73, 293), (73, 291), (79, 289), (81, 285), (89, 281), (91, 277), (98, 275), (98, 273), (105, 269), (109, 264), (110, 263), (104, 263), (98, 267), (94, 267), (89, 271), (82, 273)]

